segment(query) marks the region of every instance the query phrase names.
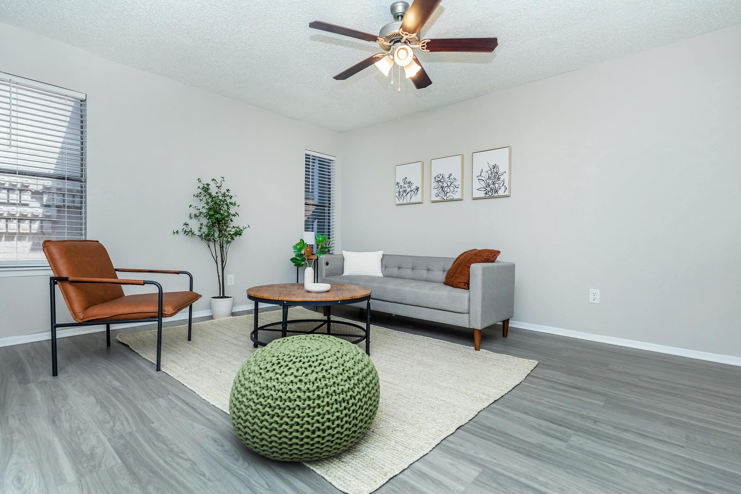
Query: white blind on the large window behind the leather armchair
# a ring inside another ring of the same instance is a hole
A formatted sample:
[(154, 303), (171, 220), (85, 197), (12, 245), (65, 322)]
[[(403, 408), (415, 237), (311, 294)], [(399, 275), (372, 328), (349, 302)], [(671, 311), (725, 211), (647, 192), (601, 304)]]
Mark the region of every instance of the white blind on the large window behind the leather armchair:
[(85, 238), (85, 95), (0, 73), (0, 268)]

